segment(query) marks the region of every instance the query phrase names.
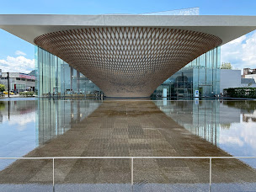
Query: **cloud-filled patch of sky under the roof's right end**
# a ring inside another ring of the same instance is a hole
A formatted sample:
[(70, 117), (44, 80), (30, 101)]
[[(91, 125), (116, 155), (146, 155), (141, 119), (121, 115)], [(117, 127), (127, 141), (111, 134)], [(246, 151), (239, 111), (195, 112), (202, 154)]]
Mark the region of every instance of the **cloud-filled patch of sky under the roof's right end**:
[(221, 62), (231, 62), (233, 68), (256, 68), (256, 31), (221, 46)]

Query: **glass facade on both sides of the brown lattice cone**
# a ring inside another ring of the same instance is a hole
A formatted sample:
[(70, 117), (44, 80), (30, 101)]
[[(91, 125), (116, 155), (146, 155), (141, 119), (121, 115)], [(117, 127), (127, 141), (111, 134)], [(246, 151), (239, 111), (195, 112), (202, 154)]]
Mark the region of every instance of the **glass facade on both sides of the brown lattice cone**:
[[(152, 97), (162, 97), (163, 89), (167, 97), (213, 96), (220, 93), (221, 49), (206, 52), (169, 77), (152, 93)], [(37, 70), (36, 90), (39, 96), (93, 96), (100, 97), (102, 91), (82, 73), (70, 67), (67, 62), (41, 49), (35, 48)]]

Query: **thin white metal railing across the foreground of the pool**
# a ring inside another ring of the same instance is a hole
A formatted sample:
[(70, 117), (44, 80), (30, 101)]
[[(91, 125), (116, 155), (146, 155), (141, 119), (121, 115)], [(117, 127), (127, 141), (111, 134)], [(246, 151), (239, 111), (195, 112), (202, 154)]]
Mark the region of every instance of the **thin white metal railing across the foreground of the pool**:
[(131, 160), (131, 188), (133, 190), (133, 160), (134, 159), (209, 159), (209, 191), (211, 191), (211, 160), (212, 159), (237, 159), (237, 158), (255, 158), (256, 157), (0, 157), (1, 159), (31, 159), (31, 160), (52, 160), (52, 188), (55, 191), (54, 162), (55, 159), (130, 159)]

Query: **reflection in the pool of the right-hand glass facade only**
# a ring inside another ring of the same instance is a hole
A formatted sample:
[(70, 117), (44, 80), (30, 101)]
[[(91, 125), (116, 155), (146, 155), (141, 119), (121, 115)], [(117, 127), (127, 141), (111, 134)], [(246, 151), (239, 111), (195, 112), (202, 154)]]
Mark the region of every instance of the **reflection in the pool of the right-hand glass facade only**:
[(220, 103), (216, 101), (155, 101), (166, 115), (185, 129), (217, 145), (219, 140)]

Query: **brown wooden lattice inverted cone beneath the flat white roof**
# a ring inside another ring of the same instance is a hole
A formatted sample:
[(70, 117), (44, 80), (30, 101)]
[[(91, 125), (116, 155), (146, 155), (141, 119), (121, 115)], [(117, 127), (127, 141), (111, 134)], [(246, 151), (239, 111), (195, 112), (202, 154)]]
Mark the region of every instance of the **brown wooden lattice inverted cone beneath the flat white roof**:
[(35, 44), (82, 72), (109, 97), (148, 97), (221, 39), (183, 29), (105, 27), (57, 31)]

